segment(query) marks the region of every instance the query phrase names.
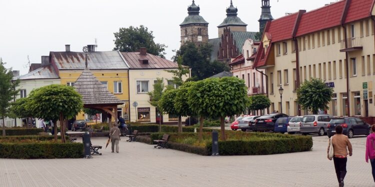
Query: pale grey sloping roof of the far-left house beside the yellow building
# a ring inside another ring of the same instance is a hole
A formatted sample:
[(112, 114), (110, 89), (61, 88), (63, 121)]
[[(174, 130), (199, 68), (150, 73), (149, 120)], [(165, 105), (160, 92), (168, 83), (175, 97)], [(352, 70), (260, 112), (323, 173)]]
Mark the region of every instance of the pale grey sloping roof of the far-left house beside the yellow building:
[(13, 80), (29, 80), (29, 79), (59, 79), (57, 73), (54, 71), (51, 65), (46, 67), (40, 67), (25, 75), (13, 77)]

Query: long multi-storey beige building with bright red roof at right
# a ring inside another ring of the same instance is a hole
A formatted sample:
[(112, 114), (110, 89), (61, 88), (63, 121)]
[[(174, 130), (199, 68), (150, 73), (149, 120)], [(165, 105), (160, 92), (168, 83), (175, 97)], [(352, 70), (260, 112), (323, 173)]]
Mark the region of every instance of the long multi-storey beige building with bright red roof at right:
[(341, 0), (267, 23), (254, 67), (266, 69), (271, 111), (282, 106), (288, 115), (307, 114), (299, 110), (296, 89), (320, 78), (334, 89), (325, 113), (375, 115), (373, 6), (373, 0)]

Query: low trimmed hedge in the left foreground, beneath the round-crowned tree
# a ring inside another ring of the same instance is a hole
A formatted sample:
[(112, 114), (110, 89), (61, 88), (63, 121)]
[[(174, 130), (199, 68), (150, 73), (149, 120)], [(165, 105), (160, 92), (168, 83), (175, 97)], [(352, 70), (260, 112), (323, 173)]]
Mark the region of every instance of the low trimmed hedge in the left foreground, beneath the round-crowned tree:
[(62, 159), (82, 157), (82, 143), (0, 143), (0, 158)]

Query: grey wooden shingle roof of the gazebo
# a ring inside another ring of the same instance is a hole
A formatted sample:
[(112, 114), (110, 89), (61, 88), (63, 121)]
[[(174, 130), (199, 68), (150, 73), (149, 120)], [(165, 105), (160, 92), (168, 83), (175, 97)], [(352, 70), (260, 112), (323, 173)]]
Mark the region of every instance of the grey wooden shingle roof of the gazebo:
[(110, 93), (88, 69), (83, 70), (73, 87), (82, 96), (85, 105), (124, 103)]

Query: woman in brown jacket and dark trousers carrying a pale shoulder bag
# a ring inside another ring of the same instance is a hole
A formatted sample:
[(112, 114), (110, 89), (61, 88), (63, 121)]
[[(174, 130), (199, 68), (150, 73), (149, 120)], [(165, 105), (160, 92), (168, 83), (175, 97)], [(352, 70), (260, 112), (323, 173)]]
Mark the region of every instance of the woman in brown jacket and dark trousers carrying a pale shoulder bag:
[(334, 170), (336, 172), (339, 187), (343, 187), (343, 180), (346, 175), (347, 155), (351, 157), (353, 150), (347, 136), (342, 134), (341, 125), (336, 126), (335, 130), (336, 134), (333, 135), (328, 141), (327, 158), (328, 160), (332, 160), (331, 158), (329, 158), (328, 154), (330, 141), (332, 141)]

